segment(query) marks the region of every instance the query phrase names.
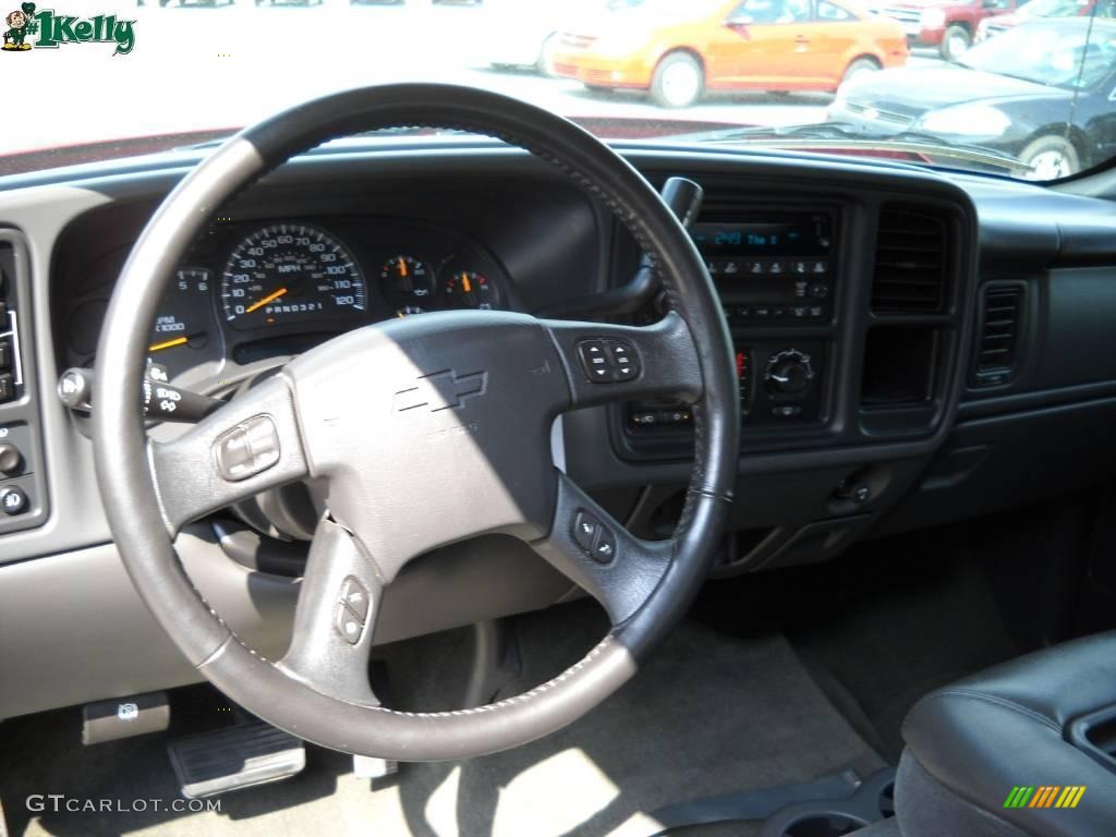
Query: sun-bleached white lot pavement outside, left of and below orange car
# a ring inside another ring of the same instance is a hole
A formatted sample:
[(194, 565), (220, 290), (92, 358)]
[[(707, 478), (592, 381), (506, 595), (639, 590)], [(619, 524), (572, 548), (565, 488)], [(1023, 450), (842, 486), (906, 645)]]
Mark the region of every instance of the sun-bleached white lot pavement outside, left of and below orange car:
[[(478, 55), (478, 45), (492, 37), (485, 29), (491, 22), (468, 7), (327, 2), (258, 8), (240, 0), (210, 9), (147, 3), (136, 8), (86, 0), (66, 10), (134, 20), (135, 47), (128, 55), (113, 55), (114, 44), (97, 42), (0, 55), (0, 80), (9, 92), (0, 116), (0, 154), (234, 128), (331, 90), (397, 80), (477, 85), (567, 116), (667, 116), (769, 126), (820, 122), (830, 99), (824, 94), (777, 98), (742, 93), (664, 112), (635, 93), (590, 93), (578, 83), (533, 71), (497, 71)], [(60, 2), (50, 6), (62, 13)]]

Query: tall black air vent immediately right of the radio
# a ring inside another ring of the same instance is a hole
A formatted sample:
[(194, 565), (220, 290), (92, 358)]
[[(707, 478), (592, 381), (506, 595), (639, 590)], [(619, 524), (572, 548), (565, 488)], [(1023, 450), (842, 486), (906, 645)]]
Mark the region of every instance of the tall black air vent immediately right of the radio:
[(941, 314), (949, 247), (945, 221), (922, 210), (887, 205), (879, 212), (872, 310)]

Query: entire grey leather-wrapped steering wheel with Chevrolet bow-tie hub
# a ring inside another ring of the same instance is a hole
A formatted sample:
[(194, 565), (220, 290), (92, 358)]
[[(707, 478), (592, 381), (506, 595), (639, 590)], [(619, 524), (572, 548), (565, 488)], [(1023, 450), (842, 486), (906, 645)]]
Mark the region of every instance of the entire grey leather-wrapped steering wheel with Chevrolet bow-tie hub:
[[(487, 134), (555, 165), (632, 231), (662, 277), (671, 312), (647, 327), (506, 311), (367, 326), (307, 352), (177, 439), (148, 440), (137, 403), (147, 334), (195, 235), (292, 155), (394, 126)], [(735, 478), (731, 341), (690, 237), (651, 185), (590, 134), (465, 87), (339, 93), (227, 141), (167, 195), (133, 248), (105, 317), (96, 375), (105, 512), (154, 617), (230, 699), (295, 735), (356, 754), (470, 758), (558, 730), (598, 704), (690, 605)], [(562, 412), (655, 396), (695, 404), (693, 477), (665, 541), (626, 531), (555, 466), (550, 445)], [(191, 520), (298, 480), (310, 481), (325, 511), (290, 647), (269, 661), (205, 603), (173, 540)], [(413, 558), (481, 533), (529, 543), (604, 606), (612, 629), (579, 663), (519, 696), (456, 712), (382, 706), (368, 655), (384, 587)]]

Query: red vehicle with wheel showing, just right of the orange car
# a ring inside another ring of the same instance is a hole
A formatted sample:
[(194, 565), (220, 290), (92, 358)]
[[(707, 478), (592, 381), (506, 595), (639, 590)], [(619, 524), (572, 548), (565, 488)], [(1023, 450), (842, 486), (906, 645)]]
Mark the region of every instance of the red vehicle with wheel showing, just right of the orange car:
[(937, 47), (942, 58), (952, 61), (973, 45), (981, 21), (1021, 6), (1017, 0), (902, 0), (874, 11), (897, 20), (912, 46)]

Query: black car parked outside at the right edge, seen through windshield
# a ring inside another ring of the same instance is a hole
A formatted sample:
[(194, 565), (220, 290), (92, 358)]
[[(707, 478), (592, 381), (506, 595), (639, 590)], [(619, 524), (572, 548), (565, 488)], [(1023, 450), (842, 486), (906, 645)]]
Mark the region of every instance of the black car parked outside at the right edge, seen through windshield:
[(933, 137), (1008, 154), (1042, 180), (1116, 148), (1116, 21), (1035, 20), (973, 47), (956, 64), (858, 77), (830, 123), (876, 136)]

